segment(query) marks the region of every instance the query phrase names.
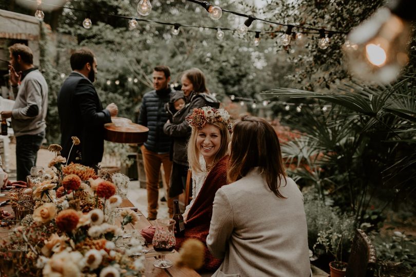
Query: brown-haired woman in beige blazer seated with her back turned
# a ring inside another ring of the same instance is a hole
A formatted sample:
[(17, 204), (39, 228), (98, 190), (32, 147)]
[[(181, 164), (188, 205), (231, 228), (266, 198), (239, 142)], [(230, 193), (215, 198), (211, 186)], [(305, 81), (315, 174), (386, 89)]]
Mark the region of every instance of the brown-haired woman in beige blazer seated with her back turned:
[(310, 275), (303, 196), (286, 176), (280, 145), (265, 120), (235, 124), (228, 186), (215, 194), (206, 244), (224, 259), (213, 276)]

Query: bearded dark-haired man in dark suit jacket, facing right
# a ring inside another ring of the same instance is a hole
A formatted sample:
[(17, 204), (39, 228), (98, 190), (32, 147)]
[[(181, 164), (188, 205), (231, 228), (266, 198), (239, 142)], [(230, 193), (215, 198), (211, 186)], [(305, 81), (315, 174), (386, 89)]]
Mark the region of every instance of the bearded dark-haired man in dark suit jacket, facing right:
[[(97, 74), (97, 60), (91, 50), (75, 51), (70, 62), (73, 71), (58, 94), (61, 154), (68, 163), (80, 163), (97, 171), (104, 152), (104, 124), (111, 122), (111, 116), (117, 115), (118, 108), (111, 103), (103, 109), (92, 85)], [(74, 145), (70, 152), (72, 136), (77, 136), (81, 143)]]

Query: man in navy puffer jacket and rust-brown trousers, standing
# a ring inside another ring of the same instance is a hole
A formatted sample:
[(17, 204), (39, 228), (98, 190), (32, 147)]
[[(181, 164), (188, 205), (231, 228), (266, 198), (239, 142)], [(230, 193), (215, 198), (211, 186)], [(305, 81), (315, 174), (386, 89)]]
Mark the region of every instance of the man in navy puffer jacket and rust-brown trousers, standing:
[[(169, 186), (172, 171), (172, 161), (169, 160), (171, 138), (163, 132), (163, 125), (168, 119), (164, 106), (174, 93), (169, 87), (169, 81), (171, 81), (169, 67), (155, 67), (153, 71), (153, 87), (155, 90), (144, 94), (140, 106), (138, 123), (149, 128), (147, 141), (141, 147), (146, 172), (148, 220), (155, 220), (158, 213), (160, 165), (163, 164), (167, 186)], [(167, 187), (168, 191), (169, 187)], [(166, 197), (168, 197), (168, 194)], [(169, 216), (172, 217), (172, 198), (168, 198), (167, 207)]]

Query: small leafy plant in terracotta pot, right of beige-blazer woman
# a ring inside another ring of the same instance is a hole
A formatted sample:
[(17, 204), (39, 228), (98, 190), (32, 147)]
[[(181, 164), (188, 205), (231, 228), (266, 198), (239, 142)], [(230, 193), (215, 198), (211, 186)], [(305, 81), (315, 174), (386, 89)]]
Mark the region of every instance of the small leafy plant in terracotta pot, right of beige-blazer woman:
[(314, 250), (319, 245), (323, 246), (327, 253), (334, 256), (335, 260), (329, 263), (331, 277), (344, 277), (347, 270), (347, 263), (342, 262), (343, 238), (344, 233), (333, 232), (332, 229), (321, 231), (318, 233), (317, 241), (313, 246)]

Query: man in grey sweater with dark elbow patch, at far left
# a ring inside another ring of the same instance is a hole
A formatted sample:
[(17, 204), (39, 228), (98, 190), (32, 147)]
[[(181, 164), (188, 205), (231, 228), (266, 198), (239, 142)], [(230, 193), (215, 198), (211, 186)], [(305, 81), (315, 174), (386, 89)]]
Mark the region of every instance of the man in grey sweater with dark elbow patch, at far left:
[(10, 84), (15, 103), (11, 111), (2, 111), (2, 117), (12, 118), (17, 181), (26, 181), (45, 138), (48, 85), (42, 73), (33, 66), (33, 53), (29, 47), (14, 44), (9, 47), (9, 52)]

